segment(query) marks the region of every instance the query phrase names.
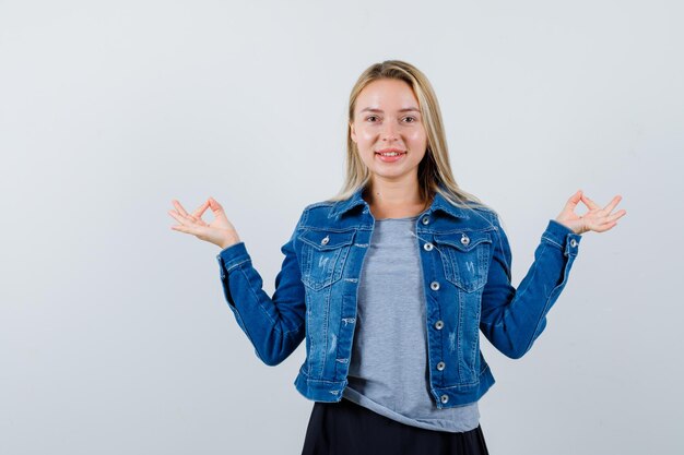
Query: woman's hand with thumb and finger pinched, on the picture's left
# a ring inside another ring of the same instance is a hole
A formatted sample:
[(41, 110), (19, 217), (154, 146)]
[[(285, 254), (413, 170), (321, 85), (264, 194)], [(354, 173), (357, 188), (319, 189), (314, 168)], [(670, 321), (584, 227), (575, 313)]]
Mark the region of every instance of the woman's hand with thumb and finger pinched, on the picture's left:
[[(235, 227), (228, 221), (223, 207), (215, 199), (209, 197), (191, 214), (187, 213), (182, 205), (175, 199), (172, 200), (172, 203), (176, 209), (168, 211), (168, 214), (180, 223), (180, 225), (172, 226), (172, 229), (191, 234), (200, 240), (219, 246), (221, 249), (231, 247), (240, 241)], [(215, 219), (207, 224), (202, 219), (202, 214), (210, 207), (214, 213)]]

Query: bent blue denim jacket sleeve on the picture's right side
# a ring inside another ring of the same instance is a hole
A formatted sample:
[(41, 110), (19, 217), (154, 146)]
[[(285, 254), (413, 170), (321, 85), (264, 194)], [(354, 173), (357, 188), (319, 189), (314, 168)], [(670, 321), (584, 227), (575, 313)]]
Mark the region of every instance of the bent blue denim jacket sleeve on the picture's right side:
[(494, 214), (493, 224), (494, 252), (483, 289), (480, 330), (498, 350), (519, 359), (546, 326), (546, 313), (567, 283), (581, 236), (550, 219), (534, 262), (516, 289), (510, 283), (508, 238)]

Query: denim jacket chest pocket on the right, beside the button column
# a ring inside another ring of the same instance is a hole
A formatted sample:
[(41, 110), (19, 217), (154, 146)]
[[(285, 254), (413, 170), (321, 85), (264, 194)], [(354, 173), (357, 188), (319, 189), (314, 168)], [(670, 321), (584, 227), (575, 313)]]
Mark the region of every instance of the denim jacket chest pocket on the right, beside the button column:
[(492, 249), (488, 232), (436, 234), (435, 243), (449, 282), (465, 292), (473, 292), (485, 285)]

